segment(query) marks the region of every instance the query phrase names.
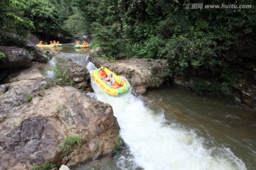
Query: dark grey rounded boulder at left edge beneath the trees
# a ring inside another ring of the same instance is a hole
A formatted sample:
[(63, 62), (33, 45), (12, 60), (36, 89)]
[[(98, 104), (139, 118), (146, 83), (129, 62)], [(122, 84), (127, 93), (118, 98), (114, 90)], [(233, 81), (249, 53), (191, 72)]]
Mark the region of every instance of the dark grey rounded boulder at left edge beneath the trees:
[(26, 49), (0, 46), (0, 51), (5, 55), (5, 57), (0, 60), (0, 69), (30, 67), (32, 64), (33, 57), (31, 57)]

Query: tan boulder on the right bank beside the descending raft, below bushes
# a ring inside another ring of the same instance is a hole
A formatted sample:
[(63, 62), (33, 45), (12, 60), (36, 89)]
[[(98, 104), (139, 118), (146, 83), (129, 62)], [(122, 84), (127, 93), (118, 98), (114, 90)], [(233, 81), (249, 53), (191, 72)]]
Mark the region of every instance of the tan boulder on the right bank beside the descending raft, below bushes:
[(98, 53), (97, 55), (90, 53), (90, 61), (96, 67), (107, 67), (115, 74), (125, 77), (133, 87), (133, 94), (144, 94), (148, 88), (159, 87), (169, 76), (167, 60), (132, 58), (110, 62), (104, 60)]

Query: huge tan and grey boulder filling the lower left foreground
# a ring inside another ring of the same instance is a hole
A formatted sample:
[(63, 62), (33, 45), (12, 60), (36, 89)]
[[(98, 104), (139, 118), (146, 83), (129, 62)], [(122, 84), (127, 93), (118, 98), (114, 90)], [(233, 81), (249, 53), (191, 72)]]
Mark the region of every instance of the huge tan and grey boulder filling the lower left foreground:
[[(111, 154), (119, 135), (112, 107), (73, 87), (48, 86), (40, 67), (34, 63), (10, 74), (3, 86), (0, 169), (31, 169), (46, 161), (72, 167)], [(82, 146), (67, 154), (59, 146), (74, 135)]]

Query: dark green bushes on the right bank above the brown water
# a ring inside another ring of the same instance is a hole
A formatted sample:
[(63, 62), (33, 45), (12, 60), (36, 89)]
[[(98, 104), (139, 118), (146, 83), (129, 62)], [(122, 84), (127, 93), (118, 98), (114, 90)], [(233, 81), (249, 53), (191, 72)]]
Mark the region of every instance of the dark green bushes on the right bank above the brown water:
[[(195, 81), (198, 93), (229, 96), (239, 82), (237, 64), (253, 59), (255, 1), (238, 9), (191, 9), (187, 4), (230, 4), (230, 1), (78, 0), (105, 58), (166, 58), (171, 76), (210, 80)], [(106, 7), (105, 7), (106, 6)], [(234, 70), (234, 72), (233, 72)], [(214, 79), (212, 79), (214, 77)]]

